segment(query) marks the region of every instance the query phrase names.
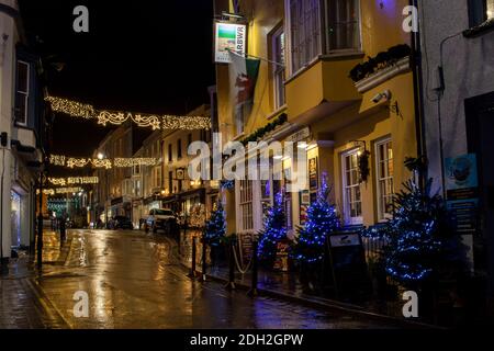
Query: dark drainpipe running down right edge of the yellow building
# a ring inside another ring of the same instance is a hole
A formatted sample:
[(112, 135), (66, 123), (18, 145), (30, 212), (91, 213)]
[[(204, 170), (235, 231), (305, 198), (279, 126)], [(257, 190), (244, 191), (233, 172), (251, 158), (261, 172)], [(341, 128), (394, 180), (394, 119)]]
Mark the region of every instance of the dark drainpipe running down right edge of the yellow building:
[[(418, 1), (409, 0), (409, 4), (418, 10)], [(417, 138), (417, 156), (427, 160), (427, 145), (424, 126), (424, 77), (422, 73), (420, 29), (417, 33), (412, 32), (412, 65), (414, 81), (414, 107), (415, 107), (415, 134)], [(419, 184), (423, 188), (427, 180), (428, 169), (419, 172)]]

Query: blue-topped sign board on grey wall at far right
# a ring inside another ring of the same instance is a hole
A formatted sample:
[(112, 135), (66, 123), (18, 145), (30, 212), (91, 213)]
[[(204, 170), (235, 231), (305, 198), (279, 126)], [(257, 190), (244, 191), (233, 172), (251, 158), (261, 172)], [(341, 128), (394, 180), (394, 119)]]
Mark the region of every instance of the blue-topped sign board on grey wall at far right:
[(447, 158), (445, 174), (448, 211), (457, 234), (475, 234), (479, 208), (476, 156), (469, 154)]

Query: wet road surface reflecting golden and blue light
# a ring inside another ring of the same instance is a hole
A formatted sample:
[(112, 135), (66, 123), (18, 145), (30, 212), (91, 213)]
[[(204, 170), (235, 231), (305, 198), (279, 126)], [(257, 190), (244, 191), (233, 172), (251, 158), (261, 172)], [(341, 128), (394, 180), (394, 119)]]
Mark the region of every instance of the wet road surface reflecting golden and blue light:
[[(71, 328), (381, 328), (379, 324), (191, 281), (164, 236), (74, 230), (65, 263), (37, 283)], [(88, 293), (89, 318), (72, 299)]]

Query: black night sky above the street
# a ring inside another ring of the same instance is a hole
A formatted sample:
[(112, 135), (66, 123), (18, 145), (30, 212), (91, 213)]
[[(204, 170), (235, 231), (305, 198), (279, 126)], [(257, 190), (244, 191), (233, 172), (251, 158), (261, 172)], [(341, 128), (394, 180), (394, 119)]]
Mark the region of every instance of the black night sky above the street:
[[(143, 113), (184, 114), (209, 102), (206, 89), (214, 83), (212, 1), (19, 2), (26, 36), (48, 71), (52, 95)], [(89, 33), (72, 30), (79, 4), (89, 9)], [(52, 151), (87, 157), (109, 131), (57, 115)]]

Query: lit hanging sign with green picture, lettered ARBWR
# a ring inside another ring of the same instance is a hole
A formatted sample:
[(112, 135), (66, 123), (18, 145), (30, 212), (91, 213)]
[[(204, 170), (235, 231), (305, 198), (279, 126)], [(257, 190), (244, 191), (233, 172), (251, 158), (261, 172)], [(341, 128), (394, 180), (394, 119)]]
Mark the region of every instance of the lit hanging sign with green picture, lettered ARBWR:
[(231, 64), (228, 52), (245, 55), (247, 26), (245, 24), (216, 22), (214, 24), (214, 61)]

